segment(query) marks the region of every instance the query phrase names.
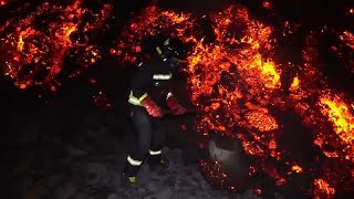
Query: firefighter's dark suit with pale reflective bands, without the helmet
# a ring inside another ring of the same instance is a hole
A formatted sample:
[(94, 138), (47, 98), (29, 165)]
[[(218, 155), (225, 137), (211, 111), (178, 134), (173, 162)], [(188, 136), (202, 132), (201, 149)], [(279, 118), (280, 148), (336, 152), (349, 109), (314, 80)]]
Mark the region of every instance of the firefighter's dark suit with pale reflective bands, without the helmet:
[[(165, 132), (159, 128), (156, 121), (149, 114), (149, 105), (176, 109), (176, 114), (183, 114), (184, 108), (170, 92), (174, 71), (168, 60), (157, 60), (148, 64), (140, 63), (136, 75), (132, 80), (128, 103), (131, 104), (131, 121), (136, 139), (131, 143), (131, 149), (123, 174), (135, 181), (146, 155), (149, 164), (163, 163), (162, 149), (165, 140)], [(153, 114), (154, 115), (154, 114)]]

